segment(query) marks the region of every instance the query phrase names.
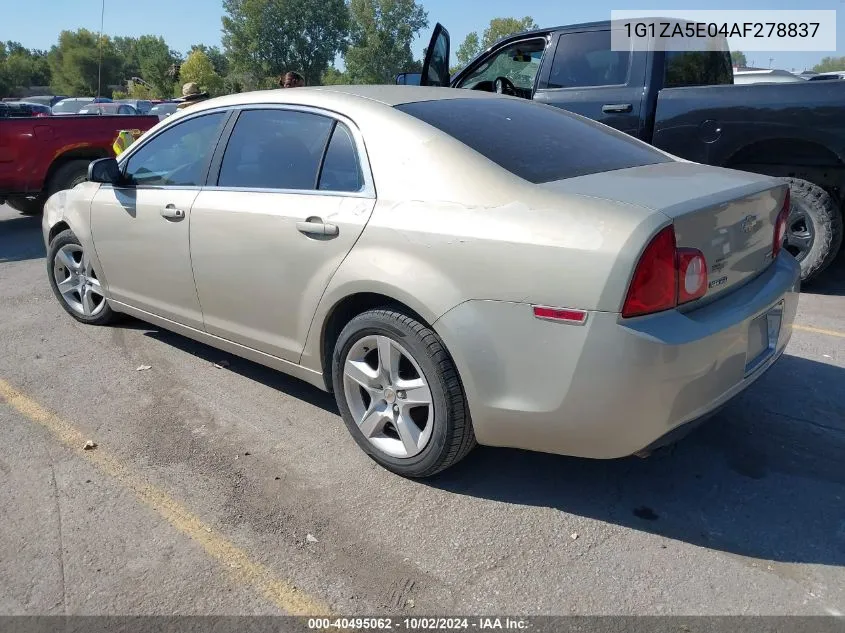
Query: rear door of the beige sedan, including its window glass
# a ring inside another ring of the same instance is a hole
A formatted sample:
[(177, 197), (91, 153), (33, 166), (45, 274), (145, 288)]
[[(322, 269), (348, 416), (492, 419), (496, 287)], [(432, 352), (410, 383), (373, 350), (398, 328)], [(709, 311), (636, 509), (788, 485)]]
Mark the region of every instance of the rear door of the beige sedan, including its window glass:
[(207, 332), (299, 361), (323, 291), (375, 205), (353, 130), (313, 111), (240, 112), (214, 161), (216, 186), (191, 212)]

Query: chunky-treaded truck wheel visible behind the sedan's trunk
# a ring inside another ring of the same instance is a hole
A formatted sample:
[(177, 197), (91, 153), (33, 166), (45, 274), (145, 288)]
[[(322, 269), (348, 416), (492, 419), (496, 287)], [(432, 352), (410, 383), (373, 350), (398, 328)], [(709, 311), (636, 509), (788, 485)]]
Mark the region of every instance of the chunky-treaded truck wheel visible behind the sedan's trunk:
[(824, 189), (800, 178), (787, 178), (792, 198), (783, 247), (801, 265), (801, 281), (827, 268), (842, 245), (842, 212)]

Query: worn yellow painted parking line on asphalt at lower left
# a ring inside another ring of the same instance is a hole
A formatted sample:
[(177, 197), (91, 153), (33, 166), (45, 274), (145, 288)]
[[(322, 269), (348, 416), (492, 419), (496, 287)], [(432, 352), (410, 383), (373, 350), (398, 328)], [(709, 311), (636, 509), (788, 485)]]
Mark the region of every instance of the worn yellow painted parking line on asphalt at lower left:
[(96, 450), (83, 450), (88, 438), (79, 429), (50, 413), (2, 378), (0, 378), (0, 399), (5, 400), (10, 407), (24, 417), (46, 428), (61, 443), (80, 456), (89, 459), (105, 474), (134, 492), (146, 506), (202, 546), (211, 558), (223, 565), (235, 582), (251, 587), (279, 609), (291, 615), (329, 613), (326, 605), (306, 595), (290, 582), (276, 577), (266, 565), (252, 560), (244, 550), (214, 532), (202, 519), (166, 492), (132, 473), (118, 457), (108, 450), (102, 447), (97, 447)]

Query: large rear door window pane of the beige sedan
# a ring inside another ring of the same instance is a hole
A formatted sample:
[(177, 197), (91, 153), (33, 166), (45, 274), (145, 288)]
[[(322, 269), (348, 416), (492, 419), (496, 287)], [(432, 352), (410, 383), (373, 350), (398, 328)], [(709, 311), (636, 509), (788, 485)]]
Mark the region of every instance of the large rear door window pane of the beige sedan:
[(334, 121), (310, 112), (245, 110), (238, 117), (219, 187), (313, 190)]

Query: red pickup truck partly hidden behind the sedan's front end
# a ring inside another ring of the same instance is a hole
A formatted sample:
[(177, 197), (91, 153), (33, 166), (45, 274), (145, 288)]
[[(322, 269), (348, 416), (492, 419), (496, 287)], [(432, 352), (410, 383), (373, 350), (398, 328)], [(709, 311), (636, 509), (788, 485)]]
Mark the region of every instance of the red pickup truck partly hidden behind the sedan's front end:
[(0, 204), (25, 214), (83, 182), (88, 163), (114, 156), (120, 130), (146, 132), (157, 116), (56, 116), (0, 119)]

